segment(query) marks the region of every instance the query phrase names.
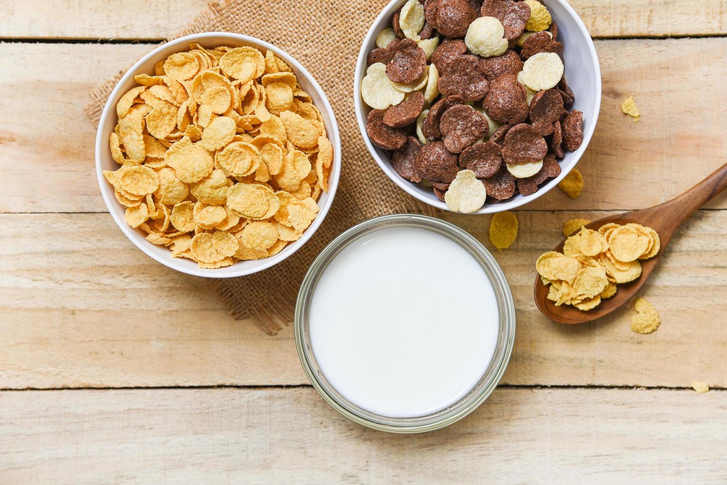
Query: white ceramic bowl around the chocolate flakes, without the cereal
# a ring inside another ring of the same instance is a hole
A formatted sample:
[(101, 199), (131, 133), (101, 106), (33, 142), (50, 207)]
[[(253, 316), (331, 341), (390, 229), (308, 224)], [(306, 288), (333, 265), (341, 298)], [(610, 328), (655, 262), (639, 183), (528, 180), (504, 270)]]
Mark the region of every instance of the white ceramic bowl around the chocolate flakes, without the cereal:
[[(507, 211), (523, 204), (529, 203), (545, 194), (548, 190), (555, 187), (561, 179), (565, 177), (576, 166), (578, 160), (586, 150), (590, 142), (595, 123), (598, 121), (598, 110), (601, 108), (601, 68), (598, 65), (598, 55), (595, 52), (593, 41), (583, 25), (582, 20), (573, 8), (565, 0), (542, 0), (553, 20), (558, 23), (558, 41), (563, 42), (566, 59), (566, 79), (568, 85), (573, 89), (575, 94), (575, 102), (571, 109), (583, 112), (583, 143), (575, 152), (566, 152), (566, 156), (561, 159), (561, 175), (556, 179), (551, 179), (542, 184), (537, 192), (533, 195), (515, 195), (507, 202), (499, 204), (485, 204), (479, 211), (475, 213), (485, 214), (500, 211)], [(395, 184), (409, 193), (412, 197), (416, 197), (424, 203), (432, 205), (435, 208), (449, 211), (446, 204), (434, 195), (432, 189), (423, 187), (420, 184), (414, 184), (403, 179), (391, 167), (391, 162), (387, 158), (384, 150), (374, 146), (366, 134), (366, 115), (369, 114), (371, 108), (361, 99), (361, 79), (366, 75), (366, 55), (374, 49), (376, 44), (376, 36), (387, 27), (391, 26), (391, 20), (395, 12), (406, 3), (406, 0), (392, 0), (384, 7), (379, 17), (374, 20), (369, 33), (364, 38), (364, 44), (361, 45), (361, 52), (358, 54), (358, 62), (356, 63), (356, 75), (353, 80), (353, 99), (356, 104), (356, 118), (358, 119), (358, 127), (361, 129), (361, 135), (364, 136), (366, 146), (374, 160), (384, 173), (392, 179)]]

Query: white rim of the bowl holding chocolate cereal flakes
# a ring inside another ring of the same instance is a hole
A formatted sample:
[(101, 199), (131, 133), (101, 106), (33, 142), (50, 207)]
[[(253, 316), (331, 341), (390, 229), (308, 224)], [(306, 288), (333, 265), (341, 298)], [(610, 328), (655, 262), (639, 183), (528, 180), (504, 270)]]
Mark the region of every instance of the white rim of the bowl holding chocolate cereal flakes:
[[(593, 123), (589, 123), (587, 129), (583, 133), (583, 142), (581, 146), (576, 150), (575, 152), (571, 152), (573, 154), (573, 157), (575, 158), (575, 161), (571, 168), (569, 168), (567, 171), (561, 170), (561, 174), (555, 179), (550, 179), (549, 182), (542, 185), (537, 192), (531, 195), (521, 195), (518, 194), (520, 197), (516, 197), (515, 200), (509, 200), (507, 202), (497, 203), (497, 204), (485, 204), (483, 205), (478, 211), (473, 212), (472, 214), (489, 214), (489, 213), (497, 213), (502, 211), (510, 211), (511, 209), (518, 208), (521, 205), (525, 205), (528, 203), (531, 203), (533, 200), (536, 200), (539, 197), (542, 197), (542, 195), (545, 195), (547, 192), (550, 192), (550, 189), (553, 189), (555, 185), (557, 185), (563, 178), (565, 178), (571, 170), (576, 168), (579, 161), (581, 160), (582, 155), (585, 153), (585, 150), (588, 147), (588, 144), (590, 144), (591, 139), (593, 138), (593, 133), (595, 131), (595, 127), (598, 124), (598, 115), (601, 111), (601, 65), (600, 62), (598, 62), (598, 53), (595, 50), (595, 45), (593, 44), (593, 38), (591, 38), (590, 33), (588, 33), (587, 28), (585, 27), (583, 20), (581, 20), (581, 17), (577, 14), (577, 12), (571, 7), (571, 5), (566, 0), (547, 0), (550, 2), (555, 2), (563, 9), (566, 10), (566, 12), (571, 16), (571, 18), (574, 20), (575, 25), (577, 25), (580, 32), (583, 34), (583, 36), (587, 39), (586, 44), (588, 48), (588, 52), (590, 53), (590, 59), (592, 61), (592, 66), (595, 72), (595, 96), (593, 98)], [(369, 149), (369, 153), (371, 153), (371, 157), (376, 160), (377, 165), (379, 168), (382, 169), (382, 171), (386, 174), (386, 176), (391, 179), (396, 185), (398, 185), (399, 188), (403, 189), (404, 192), (411, 195), (411, 197), (416, 198), (417, 200), (420, 200), (421, 202), (430, 205), (434, 208), (441, 209), (443, 211), (449, 211), (449, 212), (456, 212), (451, 211), (449, 207), (447, 207), (446, 203), (444, 203), (442, 200), (439, 200), (435, 195), (432, 195), (432, 197), (427, 197), (425, 195), (420, 194), (417, 192), (417, 190), (414, 190), (414, 184), (409, 182), (406, 179), (403, 179), (399, 174), (396, 174), (393, 169), (391, 169), (389, 166), (387, 166), (387, 162), (383, 160), (382, 157), (379, 156), (377, 153), (376, 147), (374, 147), (373, 144), (371, 144), (371, 140), (369, 139), (369, 136), (366, 134), (366, 118), (364, 118), (364, 105), (363, 100), (361, 99), (361, 79), (364, 78), (364, 73), (366, 71), (366, 57), (369, 54), (369, 52), (366, 50), (366, 46), (369, 45), (371, 42), (371, 38), (375, 38), (379, 34), (379, 30), (375, 30), (376, 26), (382, 23), (382, 20), (391, 17), (393, 15), (393, 11), (399, 7), (400, 4), (406, 3), (406, 0), (391, 0), (379, 13), (379, 15), (376, 17), (373, 23), (371, 23), (371, 27), (369, 28), (369, 31), (366, 33), (366, 36), (364, 37), (364, 41), (361, 42), (361, 50), (358, 52), (358, 60), (356, 61), (356, 72), (353, 76), (353, 102), (356, 110), (356, 121), (358, 121), (358, 129), (361, 131), (361, 136), (364, 138), (364, 143), (366, 143), (366, 147)]]

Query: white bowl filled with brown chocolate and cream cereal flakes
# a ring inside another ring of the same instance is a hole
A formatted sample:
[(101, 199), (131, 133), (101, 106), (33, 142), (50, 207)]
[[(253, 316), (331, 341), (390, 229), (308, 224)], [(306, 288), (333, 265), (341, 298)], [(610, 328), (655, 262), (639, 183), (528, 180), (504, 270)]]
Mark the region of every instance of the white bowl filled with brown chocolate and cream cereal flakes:
[(392, 0), (361, 45), (354, 102), (371, 156), (401, 189), (495, 213), (576, 166), (601, 71), (565, 0)]

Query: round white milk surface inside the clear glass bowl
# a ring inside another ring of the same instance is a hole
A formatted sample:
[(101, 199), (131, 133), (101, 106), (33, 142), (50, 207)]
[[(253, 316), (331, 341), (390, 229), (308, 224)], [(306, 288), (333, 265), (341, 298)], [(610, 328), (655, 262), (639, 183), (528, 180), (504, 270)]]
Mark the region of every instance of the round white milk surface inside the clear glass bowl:
[(331, 261), (309, 322), (316, 361), (342, 396), (377, 415), (417, 417), (449, 407), (480, 380), (499, 312), (467, 250), (427, 229), (391, 227)]

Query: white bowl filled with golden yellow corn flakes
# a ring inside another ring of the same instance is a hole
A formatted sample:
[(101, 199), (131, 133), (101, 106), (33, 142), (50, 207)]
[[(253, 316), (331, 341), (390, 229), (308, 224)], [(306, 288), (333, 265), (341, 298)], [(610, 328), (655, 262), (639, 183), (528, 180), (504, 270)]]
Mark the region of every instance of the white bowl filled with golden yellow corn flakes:
[(126, 237), (169, 268), (214, 278), (262, 271), (304, 245), (341, 168), (336, 118), (313, 76), (236, 33), (142, 57), (104, 107), (95, 152)]

